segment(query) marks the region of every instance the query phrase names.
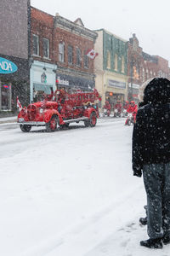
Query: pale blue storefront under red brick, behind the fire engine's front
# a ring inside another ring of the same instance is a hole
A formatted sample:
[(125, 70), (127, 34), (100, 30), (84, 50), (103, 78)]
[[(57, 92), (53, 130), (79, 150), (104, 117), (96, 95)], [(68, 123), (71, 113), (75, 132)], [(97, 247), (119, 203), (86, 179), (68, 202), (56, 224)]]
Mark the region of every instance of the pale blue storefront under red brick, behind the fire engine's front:
[(30, 99), (31, 102), (41, 101), (43, 94), (51, 94), (56, 90), (55, 76), (57, 66), (41, 61), (33, 61), (30, 70)]

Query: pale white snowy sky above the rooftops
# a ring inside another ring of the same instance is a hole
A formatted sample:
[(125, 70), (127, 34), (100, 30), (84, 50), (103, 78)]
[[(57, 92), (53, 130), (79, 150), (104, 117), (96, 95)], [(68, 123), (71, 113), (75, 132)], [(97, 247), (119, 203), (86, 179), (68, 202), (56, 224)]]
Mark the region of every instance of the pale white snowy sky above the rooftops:
[(125, 40), (135, 33), (144, 52), (170, 66), (169, 0), (31, 0), (31, 6), (71, 21), (81, 18), (88, 29), (105, 28)]

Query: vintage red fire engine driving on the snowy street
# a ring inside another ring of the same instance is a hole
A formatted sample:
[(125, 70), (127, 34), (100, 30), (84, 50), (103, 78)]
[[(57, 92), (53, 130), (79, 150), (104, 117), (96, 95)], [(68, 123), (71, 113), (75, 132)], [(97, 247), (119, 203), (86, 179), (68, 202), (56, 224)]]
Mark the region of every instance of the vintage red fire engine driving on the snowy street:
[(31, 131), (32, 126), (45, 126), (46, 130), (57, 131), (72, 122), (84, 122), (85, 126), (94, 127), (99, 117), (99, 93), (77, 91), (66, 93), (55, 90), (45, 96), (42, 102), (31, 103), (20, 110), (18, 124), (21, 131)]

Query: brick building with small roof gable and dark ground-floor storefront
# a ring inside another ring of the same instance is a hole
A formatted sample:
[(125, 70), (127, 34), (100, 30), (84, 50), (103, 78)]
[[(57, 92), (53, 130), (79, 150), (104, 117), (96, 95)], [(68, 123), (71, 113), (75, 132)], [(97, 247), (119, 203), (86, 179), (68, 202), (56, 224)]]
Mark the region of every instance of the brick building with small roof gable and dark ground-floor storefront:
[(54, 17), (54, 60), (57, 63), (57, 88), (89, 90), (95, 86), (94, 61), (86, 55), (94, 49), (96, 32), (86, 28), (82, 20)]

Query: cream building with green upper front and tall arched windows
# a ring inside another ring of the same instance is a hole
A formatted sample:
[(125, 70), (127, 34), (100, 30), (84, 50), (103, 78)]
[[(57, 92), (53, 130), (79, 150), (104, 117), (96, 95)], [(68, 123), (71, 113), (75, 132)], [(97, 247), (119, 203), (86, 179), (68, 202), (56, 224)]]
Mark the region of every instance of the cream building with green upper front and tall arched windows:
[(102, 96), (102, 106), (108, 100), (113, 106), (117, 100), (127, 100), (127, 41), (104, 29), (95, 31), (98, 38), (94, 61), (95, 84)]

